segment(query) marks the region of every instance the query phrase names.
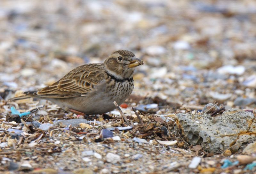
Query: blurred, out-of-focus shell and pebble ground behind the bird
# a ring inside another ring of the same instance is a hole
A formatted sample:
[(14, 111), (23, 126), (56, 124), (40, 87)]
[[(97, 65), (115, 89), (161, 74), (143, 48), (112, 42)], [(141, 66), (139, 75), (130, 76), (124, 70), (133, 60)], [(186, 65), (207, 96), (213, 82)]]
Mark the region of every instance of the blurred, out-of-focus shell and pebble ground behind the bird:
[(133, 95), (255, 107), (255, 0), (0, 2), (2, 94), (50, 85), (119, 49), (145, 62)]

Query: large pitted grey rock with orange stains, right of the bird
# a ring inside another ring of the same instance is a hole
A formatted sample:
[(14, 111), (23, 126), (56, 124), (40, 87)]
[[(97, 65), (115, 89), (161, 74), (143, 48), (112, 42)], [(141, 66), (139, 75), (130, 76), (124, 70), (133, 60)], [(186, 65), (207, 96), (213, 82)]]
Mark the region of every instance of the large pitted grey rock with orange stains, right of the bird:
[[(176, 123), (184, 138), (192, 145), (199, 144), (210, 153), (222, 153), (236, 142), (252, 139), (256, 132), (256, 121), (251, 112), (232, 109), (222, 115), (180, 113)], [(254, 126), (253, 126), (254, 125)], [(241, 144), (231, 148), (237, 151)]]

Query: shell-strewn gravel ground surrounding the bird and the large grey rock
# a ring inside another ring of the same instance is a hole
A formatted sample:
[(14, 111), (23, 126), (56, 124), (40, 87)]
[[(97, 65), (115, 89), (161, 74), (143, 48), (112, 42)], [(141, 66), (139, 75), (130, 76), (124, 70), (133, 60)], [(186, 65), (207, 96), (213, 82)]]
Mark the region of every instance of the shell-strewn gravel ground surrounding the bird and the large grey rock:
[[(196, 114), (214, 102), (226, 110), (255, 112), (255, 14), (255, 0), (2, 0), (0, 172), (253, 173), (255, 167), (245, 170), (247, 163), (239, 161), (243, 148), (211, 154), (189, 145), (175, 116)], [(144, 61), (127, 105), (121, 105), (131, 129), (106, 131), (129, 126), (114, 110), (111, 117), (90, 116), (88, 123), (44, 131), (28, 122), (45, 125), (79, 116), (44, 100), (7, 102), (79, 65), (103, 62), (119, 49)], [(27, 124), (20, 125), (19, 117), (11, 122), (12, 106), (31, 111), (22, 117)], [(104, 131), (116, 138), (106, 138)], [(194, 167), (195, 156), (200, 161)], [(221, 168), (225, 159), (240, 163)]]

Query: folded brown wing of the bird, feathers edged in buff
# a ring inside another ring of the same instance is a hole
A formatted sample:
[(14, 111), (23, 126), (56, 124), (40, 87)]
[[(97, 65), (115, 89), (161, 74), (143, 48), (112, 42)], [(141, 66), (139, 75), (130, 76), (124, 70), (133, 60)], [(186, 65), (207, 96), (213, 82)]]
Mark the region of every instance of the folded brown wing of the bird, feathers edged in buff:
[(103, 72), (102, 64), (85, 64), (73, 69), (52, 85), (24, 94), (47, 98), (86, 96), (95, 91), (95, 87), (104, 79)]

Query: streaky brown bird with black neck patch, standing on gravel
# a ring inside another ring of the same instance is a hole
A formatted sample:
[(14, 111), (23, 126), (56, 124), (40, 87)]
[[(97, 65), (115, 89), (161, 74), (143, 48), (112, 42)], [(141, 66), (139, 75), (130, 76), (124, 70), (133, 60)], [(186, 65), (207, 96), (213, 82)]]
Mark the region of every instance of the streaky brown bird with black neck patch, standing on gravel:
[(135, 67), (144, 64), (128, 50), (113, 52), (103, 63), (84, 64), (68, 72), (52, 85), (26, 91), (25, 98), (41, 98), (78, 115), (105, 114), (122, 104), (134, 88)]

